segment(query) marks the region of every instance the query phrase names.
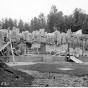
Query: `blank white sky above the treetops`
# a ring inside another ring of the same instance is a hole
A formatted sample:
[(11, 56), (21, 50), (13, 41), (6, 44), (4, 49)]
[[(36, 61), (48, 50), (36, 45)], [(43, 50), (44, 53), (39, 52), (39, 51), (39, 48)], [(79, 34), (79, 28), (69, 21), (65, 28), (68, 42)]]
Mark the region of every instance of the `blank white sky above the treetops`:
[(49, 14), (51, 6), (56, 5), (58, 11), (70, 15), (75, 8), (81, 8), (88, 13), (88, 0), (0, 0), (0, 19), (22, 19), (30, 22), (42, 12)]

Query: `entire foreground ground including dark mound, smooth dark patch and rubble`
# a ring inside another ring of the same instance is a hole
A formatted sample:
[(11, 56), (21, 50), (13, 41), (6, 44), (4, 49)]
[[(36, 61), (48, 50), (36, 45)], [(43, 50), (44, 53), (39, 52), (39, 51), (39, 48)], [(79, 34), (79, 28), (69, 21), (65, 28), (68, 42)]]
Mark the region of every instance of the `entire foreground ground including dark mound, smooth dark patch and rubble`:
[[(55, 69), (64, 66), (77, 69), (67, 72)], [(30, 86), (88, 87), (88, 65), (78, 65), (75, 63), (41, 63), (13, 66), (12, 68), (0, 62), (0, 87)]]

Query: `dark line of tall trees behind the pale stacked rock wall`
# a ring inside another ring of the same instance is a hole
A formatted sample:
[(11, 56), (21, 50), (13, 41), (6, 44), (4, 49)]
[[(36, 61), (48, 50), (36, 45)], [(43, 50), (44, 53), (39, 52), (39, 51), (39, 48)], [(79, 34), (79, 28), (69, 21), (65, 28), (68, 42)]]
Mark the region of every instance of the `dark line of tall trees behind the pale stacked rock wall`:
[(42, 28), (45, 28), (47, 32), (54, 32), (56, 28), (61, 32), (66, 32), (68, 29), (73, 32), (82, 29), (83, 33), (88, 33), (88, 14), (81, 8), (76, 8), (71, 15), (63, 15), (63, 12), (58, 11), (53, 5), (47, 17), (40, 13), (38, 17), (32, 18), (30, 23), (21, 19), (19, 21), (11, 18), (2, 19), (2, 28), (7, 29), (8, 27), (10, 29), (18, 27), (20, 32), (25, 30), (32, 32)]

